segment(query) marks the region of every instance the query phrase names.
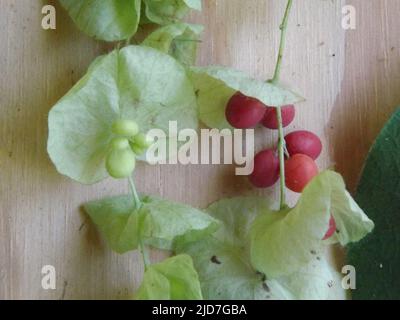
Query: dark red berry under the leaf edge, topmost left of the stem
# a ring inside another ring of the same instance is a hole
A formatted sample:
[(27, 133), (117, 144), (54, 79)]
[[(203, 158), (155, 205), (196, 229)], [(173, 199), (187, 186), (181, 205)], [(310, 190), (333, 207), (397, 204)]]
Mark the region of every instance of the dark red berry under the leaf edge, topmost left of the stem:
[(237, 129), (254, 128), (264, 117), (265, 104), (237, 92), (229, 100), (225, 115), (230, 125)]

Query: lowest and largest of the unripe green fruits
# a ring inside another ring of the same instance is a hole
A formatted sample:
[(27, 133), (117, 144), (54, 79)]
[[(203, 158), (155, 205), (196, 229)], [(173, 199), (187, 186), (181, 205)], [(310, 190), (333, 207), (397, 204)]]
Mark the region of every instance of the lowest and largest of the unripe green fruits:
[(129, 147), (111, 150), (106, 159), (107, 171), (115, 179), (129, 177), (135, 166), (136, 156)]

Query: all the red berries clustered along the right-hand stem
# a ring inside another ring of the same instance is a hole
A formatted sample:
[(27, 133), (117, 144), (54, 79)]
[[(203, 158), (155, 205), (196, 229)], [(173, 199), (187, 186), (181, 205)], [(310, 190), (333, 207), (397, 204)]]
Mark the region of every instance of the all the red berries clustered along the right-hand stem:
[[(261, 124), (268, 129), (277, 130), (279, 121), (277, 108), (269, 107), (261, 101), (237, 92), (226, 107), (226, 119), (232, 127), (250, 129)], [(293, 105), (281, 107), (282, 126), (287, 127), (295, 118)], [(320, 138), (309, 131), (295, 131), (285, 136), (285, 183), (294, 192), (301, 193), (306, 185), (318, 174), (315, 160), (320, 156), (322, 143)], [(276, 148), (259, 152), (254, 158), (254, 171), (250, 182), (257, 188), (273, 186), (280, 176), (279, 155)], [(336, 231), (333, 217), (324, 240)]]

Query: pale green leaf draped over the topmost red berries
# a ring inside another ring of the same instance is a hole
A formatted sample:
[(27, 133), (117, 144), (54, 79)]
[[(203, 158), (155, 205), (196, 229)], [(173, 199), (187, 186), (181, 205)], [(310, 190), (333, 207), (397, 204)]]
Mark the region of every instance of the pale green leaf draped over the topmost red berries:
[(304, 100), (279, 85), (254, 80), (241, 71), (226, 67), (193, 67), (190, 77), (197, 93), (200, 120), (210, 128), (232, 128), (225, 118), (225, 109), (237, 91), (267, 106), (283, 106)]

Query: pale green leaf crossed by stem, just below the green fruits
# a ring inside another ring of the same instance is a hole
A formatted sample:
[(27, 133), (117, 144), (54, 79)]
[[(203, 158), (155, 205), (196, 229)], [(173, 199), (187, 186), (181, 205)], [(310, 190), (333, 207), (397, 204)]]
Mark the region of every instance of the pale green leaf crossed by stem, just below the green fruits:
[(154, 197), (143, 197), (136, 209), (131, 196), (92, 201), (85, 210), (118, 253), (137, 248), (139, 237), (158, 249), (199, 240), (219, 226), (216, 219), (187, 205)]

